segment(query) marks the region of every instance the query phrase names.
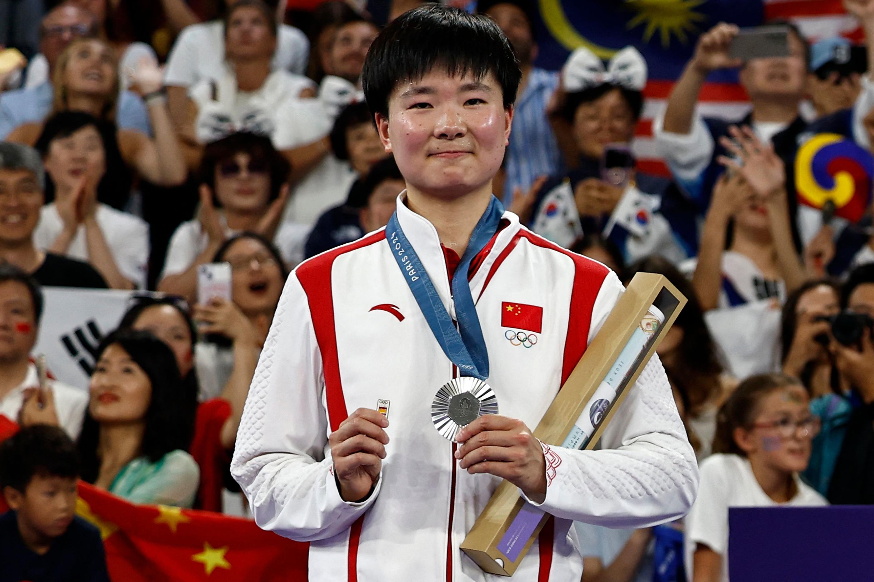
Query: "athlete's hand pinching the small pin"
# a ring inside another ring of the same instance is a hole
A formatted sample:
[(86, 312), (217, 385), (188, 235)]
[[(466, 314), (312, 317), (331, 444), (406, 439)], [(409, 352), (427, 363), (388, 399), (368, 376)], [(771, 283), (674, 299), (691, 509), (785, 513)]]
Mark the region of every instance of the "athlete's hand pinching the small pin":
[(361, 501), (373, 489), (385, 459), (386, 427), (385, 416), (371, 408), (358, 408), (328, 437), (343, 501)]

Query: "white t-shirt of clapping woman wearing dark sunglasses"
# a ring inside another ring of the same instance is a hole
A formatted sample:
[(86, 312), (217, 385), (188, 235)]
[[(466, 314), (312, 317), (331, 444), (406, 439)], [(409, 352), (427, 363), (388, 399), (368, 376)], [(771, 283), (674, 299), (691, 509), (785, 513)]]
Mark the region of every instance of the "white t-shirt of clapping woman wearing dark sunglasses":
[[(225, 226), (225, 236), (237, 234), (237, 231), (227, 228), (224, 216), (221, 216), (221, 221)], [(281, 223), (276, 229), (274, 244), (289, 266), (303, 260), (303, 243), (306, 235), (306, 232), (302, 232), (302, 229), (294, 224)], [(200, 221), (195, 219), (180, 224), (170, 238), (161, 278), (178, 275), (187, 270), (197, 260), (198, 255), (206, 250), (207, 245), (209, 245), (209, 236), (201, 229)]]

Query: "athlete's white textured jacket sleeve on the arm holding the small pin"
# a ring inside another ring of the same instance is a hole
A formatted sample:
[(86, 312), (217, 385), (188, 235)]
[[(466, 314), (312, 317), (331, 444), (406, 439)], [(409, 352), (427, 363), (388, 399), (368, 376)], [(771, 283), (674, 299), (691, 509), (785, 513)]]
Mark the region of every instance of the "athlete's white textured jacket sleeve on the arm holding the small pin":
[(343, 501), (329, 452), (324, 373), (306, 293), (288, 277), (239, 423), (231, 473), (265, 530), (306, 542), (336, 536), (377, 498)]

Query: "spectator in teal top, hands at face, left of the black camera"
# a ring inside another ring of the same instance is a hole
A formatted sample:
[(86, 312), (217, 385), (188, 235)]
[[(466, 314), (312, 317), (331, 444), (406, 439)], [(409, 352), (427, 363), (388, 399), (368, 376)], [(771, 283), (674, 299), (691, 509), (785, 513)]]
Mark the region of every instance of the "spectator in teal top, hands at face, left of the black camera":
[(801, 381), (810, 394), (810, 411), (819, 417), (804, 480), (823, 496), (829, 491), (852, 405), (834, 365), (834, 339), (827, 318), (840, 312), (840, 290), (826, 279), (801, 285), (786, 300), (781, 318), (783, 373)]

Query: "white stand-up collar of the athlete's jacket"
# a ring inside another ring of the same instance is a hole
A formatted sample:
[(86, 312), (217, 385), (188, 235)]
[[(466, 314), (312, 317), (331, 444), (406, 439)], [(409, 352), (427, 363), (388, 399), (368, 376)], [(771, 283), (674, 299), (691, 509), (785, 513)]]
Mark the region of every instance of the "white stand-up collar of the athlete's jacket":
[[(449, 286), (449, 271), (446, 266), (446, 258), (443, 256), (443, 249), (440, 246), (440, 236), (437, 234), (437, 229), (434, 224), (427, 220), (424, 216), (420, 216), (406, 206), (406, 190), (400, 193), (397, 201), (398, 223), (400, 228), (404, 229), (404, 234), (416, 254), (422, 266), (425, 267), (428, 277), (434, 283), (434, 289), (440, 295), (443, 305), (447, 307), (450, 315), (454, 318), (454, 310), (451, 309), (452, 291)], [(495, 264), (497, 257), (501, 253), (519, 231), (519, 217), (512, 212), (504, 211), (503, 220), (509, 221), (506, 227), (497, 233), (495, 243), (491, 246), (486, 257), (482, 259), (482, 263), (474, 277), (470, 280), (470, 291), (474, 299), (478, 298), (482, 292), (482, 285), (485, 283), (486, 277), (489, 275), (492, 265)], [(387, 239), (391, 239), (392, 233), (385, 232)], [(461, 275), (461, 273), (459, 273)]]

